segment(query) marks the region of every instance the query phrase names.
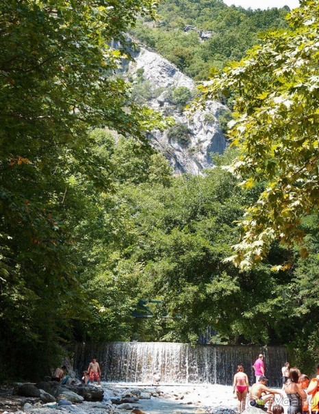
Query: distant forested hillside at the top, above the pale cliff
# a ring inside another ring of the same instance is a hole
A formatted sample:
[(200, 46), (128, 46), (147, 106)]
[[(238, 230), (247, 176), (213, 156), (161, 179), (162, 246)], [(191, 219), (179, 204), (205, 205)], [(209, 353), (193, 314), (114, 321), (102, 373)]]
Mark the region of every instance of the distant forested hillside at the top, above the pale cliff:
[[(260, 31), (285, 27), (288, 11), (245, 10), (220, 0), (165, 0), (159, 3), (157, 21), (138, 21), (131, 34), (186, 75), (206, 79), (212, 66), (239, 60), (259, 42)], [(203, 31), (210, 37), (204, 38)]]

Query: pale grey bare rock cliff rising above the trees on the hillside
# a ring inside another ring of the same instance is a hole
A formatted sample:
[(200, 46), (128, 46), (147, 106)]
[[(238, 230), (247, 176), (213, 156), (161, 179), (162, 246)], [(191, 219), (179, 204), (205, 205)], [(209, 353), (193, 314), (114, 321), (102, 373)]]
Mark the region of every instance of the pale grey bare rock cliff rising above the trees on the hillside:
[(175, 173), (201, 174), (203, 168), (212, 166), (211, 153), (222, 153), (227, 146), (218, 122), (218, 117), (227, 107), (217, 101), (210, 101), (204, 110), (197, 110), (188, 118), (182, 112), (182, 105), (177, 105), (176, 100), (174, 103), (172, 96), (181, 87), (194, 93), (194, 81), (149, 49), (140, 47), (134, 57), (135, 62), (129, 62), (128, 65), (129, 75), (138, 79), (138, 74), (142, 73), (148, 85), (157, 92), (151, 99), (148, 97), (146, 105), (173, 117), (178, 125), (185, 125), (187, 131), (187, 137), (182, 141), (175, 139), (169, 129), (164, 132), (153, 131), (149, 135), (151, 144), (164, 154)]

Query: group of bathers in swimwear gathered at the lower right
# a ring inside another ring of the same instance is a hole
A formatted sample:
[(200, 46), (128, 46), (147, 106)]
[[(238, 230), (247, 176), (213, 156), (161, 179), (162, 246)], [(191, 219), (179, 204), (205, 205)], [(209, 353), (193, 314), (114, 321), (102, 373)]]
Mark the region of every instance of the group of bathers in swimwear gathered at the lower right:
[[(290, 368), (285, 363), (282, 368), (283, 388), (281, 391), (267, 387), (264, 367), (264, 356), (259, 354), (253, 365), (256, 382), (249, 390), (248, 376), (244, 373), (244, 367), (238, 365), (237, 373), (233, 377), (233, 393), (238, 398), (238, 412), (242, 413), (246, 407), (246, 398), (249, 393), (249, 406), (266, 411), (268, 414), (282, 414), (283, 406), (272, 404), (275, 395), (288, 398), (288, 414), (319, 414), (319, 365), (317, 376), (312, 380), (296, 367)], [(267, 406), (266, 406), (267, 404)]]

